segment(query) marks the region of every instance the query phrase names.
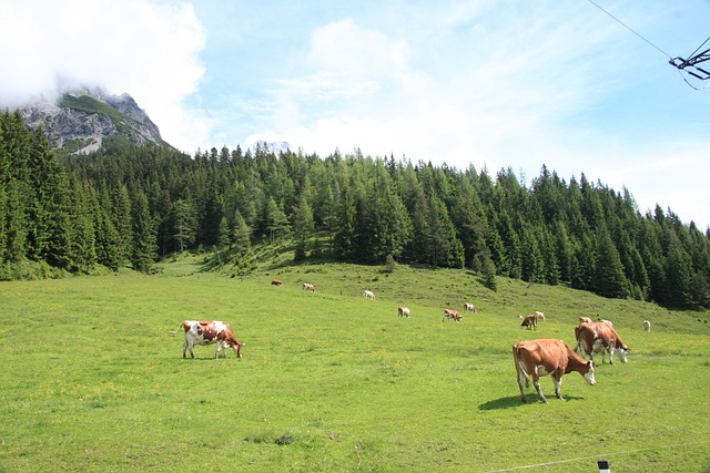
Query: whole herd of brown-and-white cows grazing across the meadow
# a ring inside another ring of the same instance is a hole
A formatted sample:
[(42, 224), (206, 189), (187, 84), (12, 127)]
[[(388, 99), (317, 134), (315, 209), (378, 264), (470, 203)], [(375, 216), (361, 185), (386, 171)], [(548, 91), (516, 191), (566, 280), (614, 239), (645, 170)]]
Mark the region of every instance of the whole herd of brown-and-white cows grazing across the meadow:
[[(273, 286), (283, 286), (283, 281), (278, 279), (272, 280), (271, 284)], [(315, 292), (315, 286), (304, 282), (303, 290)], [(375, 294), (371, 290), (365, 290), (363, 297), (375, 300)], [(476, 307), (468, 302), (464, 305), (464, 310), (474, 313), (477, 311)], [(410, 318), (412, 311), (407, 307), (398, 307), (397, 315)], [(521, 329), (537, 330), (537, 323), (540, 320), (545, 320), (545, 313), (537, 311), (526, 317), (518, 316), (518, 318), (523, 319)], [(446, 319), (460, 322), (463, 317), (457, 310), (444, 309), (442, 321)], [(196, 345), (213, 343), (216, 343), (215, 358), (220, 357), (220, 351), (223, 351), (224, 358), (226, 358), (227, 348), (234, 351), (236, 358), (242, 358), (242, 347), (245, 343), (236, 339), (229, 323), (219, 320), (185, 320), (180, 327), (185, 331), (185, 341), (182, 346), (183, 358), (186, 358), (187, 350), (190, 350), (191, 357), (195, 358), (193, 348)], [(650, 321), (643, 321), (643, 330), (651, 331)], [(532, 379), (532, 384), (540, 400), (547, 403), (547, 399), (540, 389), (539, 379), (548, 374), (555, 383), (555, 394), (561, 400), (564, 400), (560, 392), (564, 374), (577, 371), (589, 384), (596, 384), (595, 353), (601, 353), (602, 363), (607, 352), (609, 353), (610, 364), (613, 364), (615, 354), (618, 354), (622, 363), (628, 361), (630, 349), (621, 341), (613, 328), (613, 323), (609, 320), (600, 319), (595, 322), (588, 317), (580, 317), (579, 325), (575, 327), (575, 339), (577, 345), (574, 350), (566, 342), (558, 339), (526, 340), (513, 346), (513, 358), (523, 402), (527, 402), (525, 387), (529, 387), (530, 379)], [(589, 360), (586, 357), (589, 357)]]

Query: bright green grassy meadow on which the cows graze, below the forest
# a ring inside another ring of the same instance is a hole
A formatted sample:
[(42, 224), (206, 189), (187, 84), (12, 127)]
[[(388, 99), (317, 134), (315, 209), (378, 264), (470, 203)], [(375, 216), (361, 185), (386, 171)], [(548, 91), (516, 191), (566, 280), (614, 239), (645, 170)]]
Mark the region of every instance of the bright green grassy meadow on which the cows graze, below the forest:
[[(505, 279), (491, 292), (456, 270), (194, 265), (0, 284), (1, 472), (710, 471), (708, 312)], [(442, 322), (465, 301), (479, 312)], [(547, 321), (519, 330), (535, 310)], [(598, 367), (596, 387), (566, 376), (566, 402), (544, 378), (549, 404), (532, 388), (521, 403), (511, 345), (574, 345), (580, 316), (612, 320), (629, 363)], [(184, 319), (231, 322), (244, 358), (183, 360)]]

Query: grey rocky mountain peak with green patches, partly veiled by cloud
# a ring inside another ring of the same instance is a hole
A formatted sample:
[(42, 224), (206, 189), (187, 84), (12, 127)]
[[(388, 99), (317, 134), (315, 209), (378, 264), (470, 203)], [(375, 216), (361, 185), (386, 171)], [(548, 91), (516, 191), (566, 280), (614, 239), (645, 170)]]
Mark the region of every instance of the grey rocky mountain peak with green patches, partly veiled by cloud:
[(128, 93), (67, 92), (55, 103), (36, 101), (21, 107), (20, 113), (27, 126), (41, 126), (52, 148), (64, 154), (97, 151), (106, 137), (136, 145), (170, 146), (158, 125)]

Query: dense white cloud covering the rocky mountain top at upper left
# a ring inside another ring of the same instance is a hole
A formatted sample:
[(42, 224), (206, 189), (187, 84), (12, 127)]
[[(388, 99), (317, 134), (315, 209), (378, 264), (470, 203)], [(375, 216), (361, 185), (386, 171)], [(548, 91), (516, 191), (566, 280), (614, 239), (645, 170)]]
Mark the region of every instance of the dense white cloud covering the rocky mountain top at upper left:
[[(183, 148), (206, 143), (197, 91), (205, 31), (189, 3), (11, 0), (0, 4), (0, 103), (17, 106), (65, 85), (130, 93)], [(192, 152), (194, 150), (185, 150)]]

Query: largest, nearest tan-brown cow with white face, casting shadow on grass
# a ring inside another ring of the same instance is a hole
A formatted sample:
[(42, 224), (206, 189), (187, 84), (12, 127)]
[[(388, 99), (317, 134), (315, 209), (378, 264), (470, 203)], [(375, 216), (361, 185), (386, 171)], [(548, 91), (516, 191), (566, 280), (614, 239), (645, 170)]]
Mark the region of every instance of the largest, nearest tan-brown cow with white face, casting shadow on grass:
[(525, 398), (526, 387), (530, 385), (530, 377), (532, 384), (537, 390), (540, 400), (547, 403), (547, 399), (540, 389), (540, 377), (551, 374), (555, 382), (555, 394), (561, 399), (560, 392), (562, 385), (562, 376), (577, 371), (585, 378), (589, 384), (595, 385), (595, 366), (594, 362), (587, 361), (579, 354), (575, 353), (562, 340), (542, 339), (521, 341), (513, 346), (513, 359), (515, 360), (515, 369), (518, 373), (518, 387), (520, 388), (520, 399), (528, 402)]

